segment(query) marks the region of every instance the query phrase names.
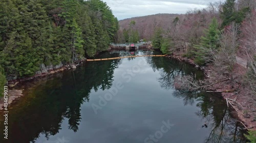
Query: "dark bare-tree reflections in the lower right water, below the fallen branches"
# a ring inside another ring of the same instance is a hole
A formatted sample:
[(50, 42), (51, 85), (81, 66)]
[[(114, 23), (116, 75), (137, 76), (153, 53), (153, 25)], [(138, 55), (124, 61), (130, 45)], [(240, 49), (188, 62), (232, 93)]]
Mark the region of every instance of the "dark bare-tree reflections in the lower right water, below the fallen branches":
[(183, 99), (185, 105), (196, 103), (200, 108), (196, 115), (211, 129), (205, 143), (245, 142), (241, 125), (231, 116), (221, 95), (175, 91), (174, 96)]

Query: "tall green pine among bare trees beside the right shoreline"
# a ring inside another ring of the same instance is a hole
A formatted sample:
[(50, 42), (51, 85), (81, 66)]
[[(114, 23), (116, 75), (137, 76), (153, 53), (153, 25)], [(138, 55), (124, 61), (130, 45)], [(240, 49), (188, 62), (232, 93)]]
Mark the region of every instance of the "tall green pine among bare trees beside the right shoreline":
[(212, 56), (209, 51), (217, 51), (220, 31), (218, 29), (218, 22), (213, 18), (209, 28), (205, 30), (205, 36), (201, 37), (199, 45), (195, 45), (195, 62), (197, 64), (204, 64), (210, 62)]

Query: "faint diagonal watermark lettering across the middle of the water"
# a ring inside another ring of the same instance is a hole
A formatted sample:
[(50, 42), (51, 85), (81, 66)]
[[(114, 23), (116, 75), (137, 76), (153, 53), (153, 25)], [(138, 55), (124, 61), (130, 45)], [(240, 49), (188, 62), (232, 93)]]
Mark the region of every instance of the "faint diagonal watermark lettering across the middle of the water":
[[(145, 59), (140, 59), (138, 63), (130, 69), (126, 69), (122, 74), (122, 79), (125, 79), (125, 82), (130, 82), (132, 80), (132, 77), (135, 77), (137, 73), (142, 72), (142, 66), (146, 65)], [(93, 111), (95, 114), (98, 113), (98, 110), (101, 110), (106, 104), (108, 104), (109, 101), (113, 99), (118, 94), (118, 91), (122, 90), (124, 88), (124, 85), (122, 82), (117, 82), (115, 86), (109, 90), (108, 93), (104, 94), (103, 96), (99, 96), (99, 101), (97, 104), (92, 103), (91, 106), (93, 108)]]

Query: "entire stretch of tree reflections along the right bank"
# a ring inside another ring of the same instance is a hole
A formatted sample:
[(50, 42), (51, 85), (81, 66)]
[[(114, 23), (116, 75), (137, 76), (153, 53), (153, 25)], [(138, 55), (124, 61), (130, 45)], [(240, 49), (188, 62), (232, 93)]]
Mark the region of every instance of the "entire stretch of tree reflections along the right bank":
[[(160, 85), (164, 89), (174, 89), (174, 79), (179, 76), (193, 75), (200, 79), (203, 73), (197, 71), (190, 65), (167, 58), (146, 59), (153, 70), (158, 70)], [(196, 115), (206, 121), (206, 125), (211, 129), (209, 136), (205, 139), (208, 143), (226, 143), (226, 142), (245, 142), (243, 131), (237, 120), (231, 117), (225, 102), (220, 95), (212, 95), (200, 91), (189, 92), (175, 90), (173, 96), (183, 99), (184, 105), (193, 105), (196, 103), (200, 108)]]

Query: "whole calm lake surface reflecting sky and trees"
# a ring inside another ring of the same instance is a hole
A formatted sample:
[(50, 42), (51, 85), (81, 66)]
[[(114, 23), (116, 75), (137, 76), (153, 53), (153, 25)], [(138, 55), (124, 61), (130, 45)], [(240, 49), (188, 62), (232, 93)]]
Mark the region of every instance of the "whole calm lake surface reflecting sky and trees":
[[(112, 51), (96, 58), (130, 54)], [(174, 78), (187, 74), (203, 75), (176, 60), (140, 57), (88, 62), (25, 82), (19, 87), (25, 96), (9, 109), (8, 140), (2, 140), (1, 114), (0, 142), (245, 142), (219, 95), (174, 89)]]

